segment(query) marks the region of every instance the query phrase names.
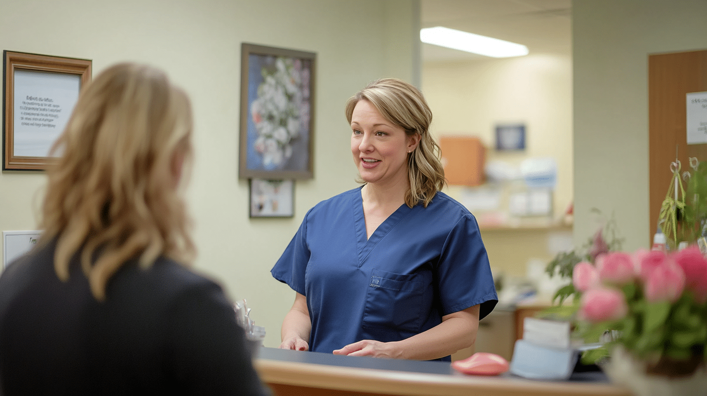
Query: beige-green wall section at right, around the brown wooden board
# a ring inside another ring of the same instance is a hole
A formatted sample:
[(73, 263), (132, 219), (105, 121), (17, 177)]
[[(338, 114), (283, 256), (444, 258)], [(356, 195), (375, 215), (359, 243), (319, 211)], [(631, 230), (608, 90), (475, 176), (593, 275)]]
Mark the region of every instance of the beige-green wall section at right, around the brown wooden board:
[(707, 49), (707, 1), (580, 0), (572, 19), (575, 240), (596, 207), (648, 248), (648, 55)]

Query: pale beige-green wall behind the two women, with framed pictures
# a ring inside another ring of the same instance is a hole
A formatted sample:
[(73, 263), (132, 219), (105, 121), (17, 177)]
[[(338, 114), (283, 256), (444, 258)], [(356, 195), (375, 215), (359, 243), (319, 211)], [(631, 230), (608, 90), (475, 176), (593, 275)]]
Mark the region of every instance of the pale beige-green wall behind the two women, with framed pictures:
[[(356, 186), (346, 99), (381, 76), (419, 79), (418, 10), (417, 0), (0, 0), (0, 48), (93, 59), (94, 75), (148, 62), (187, 90), (197, 268), (247, 298), (274, 347), (294, 293), (269, 271), (311, 206)], [(238, 180), (241, 42), (317, 52), (315, 179), (296, 183), (293, 219), (248, 217), (248, 185)], [(0, 230), (35, 229), (44, 184), (43, 173), (0, 174)]]

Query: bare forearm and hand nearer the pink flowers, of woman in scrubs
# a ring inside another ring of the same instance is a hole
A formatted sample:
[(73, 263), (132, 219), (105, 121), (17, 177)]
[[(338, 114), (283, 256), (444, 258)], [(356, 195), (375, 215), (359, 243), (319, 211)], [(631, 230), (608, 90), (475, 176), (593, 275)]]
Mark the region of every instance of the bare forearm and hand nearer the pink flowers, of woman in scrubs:
[(432, 360), (471, 347), (479, 330), (479, 305), (442, 317), (442, 322), (426, 332), (396, 342), (372, 339), (354, 342), (334, 354), (393, 359)]

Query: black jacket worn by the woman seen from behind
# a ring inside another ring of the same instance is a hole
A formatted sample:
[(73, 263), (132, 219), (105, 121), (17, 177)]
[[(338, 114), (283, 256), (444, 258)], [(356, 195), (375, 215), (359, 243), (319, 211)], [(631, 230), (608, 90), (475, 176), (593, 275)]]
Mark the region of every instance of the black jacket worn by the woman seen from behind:
[(96, 301), (54, 244), (0, 276), (0, 394), (264, 395), (233, 305), (220, 286), (160, 258), (129, 262)]

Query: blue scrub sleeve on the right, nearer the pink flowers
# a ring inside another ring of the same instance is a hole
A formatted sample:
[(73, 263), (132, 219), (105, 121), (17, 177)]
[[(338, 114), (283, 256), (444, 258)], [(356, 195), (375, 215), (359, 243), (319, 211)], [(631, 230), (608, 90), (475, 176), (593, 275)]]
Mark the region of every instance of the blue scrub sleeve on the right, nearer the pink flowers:
[(440, 255), (437, 276), (442, 315), (480, 304), (479, 319), (482, 319), (498, 303), (489, 256), (472, 214), (462, 216), (450, 231)]

